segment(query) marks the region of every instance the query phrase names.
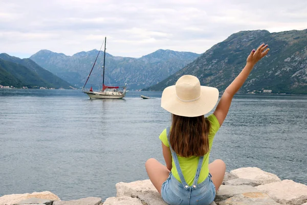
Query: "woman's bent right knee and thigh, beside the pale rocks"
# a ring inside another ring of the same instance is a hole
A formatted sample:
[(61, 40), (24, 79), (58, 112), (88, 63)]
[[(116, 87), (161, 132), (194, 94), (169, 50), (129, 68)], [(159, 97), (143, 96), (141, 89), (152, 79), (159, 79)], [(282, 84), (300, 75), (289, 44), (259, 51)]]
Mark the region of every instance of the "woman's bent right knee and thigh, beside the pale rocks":
[(209, 163), (209, 172), (212, 175), (211, 179), (215, 185), (216, 192), (223, 183), (225, 171), (226, 165), (222, 159), (216, 159), (212, 163)]

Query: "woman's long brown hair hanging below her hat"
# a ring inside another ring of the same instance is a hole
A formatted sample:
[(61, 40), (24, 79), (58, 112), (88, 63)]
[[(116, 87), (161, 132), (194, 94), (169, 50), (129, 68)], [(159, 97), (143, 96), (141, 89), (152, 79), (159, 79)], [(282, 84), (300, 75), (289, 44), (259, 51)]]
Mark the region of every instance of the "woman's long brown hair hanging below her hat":
[(183, 117), (172, 114), (170, 146), (182, 157), (204, 156), (209, 152), (210, 121), (204, 115)]

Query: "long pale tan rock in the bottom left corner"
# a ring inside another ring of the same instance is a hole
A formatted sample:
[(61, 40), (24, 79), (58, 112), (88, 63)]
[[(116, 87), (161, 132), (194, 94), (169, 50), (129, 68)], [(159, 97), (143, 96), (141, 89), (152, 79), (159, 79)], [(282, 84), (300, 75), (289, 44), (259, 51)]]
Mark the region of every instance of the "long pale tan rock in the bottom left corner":
[(33, 192), (32, 194), (10, 194), (4, 195), (0, 197), (0, 204), (12, 205), (15, 203), (19, 203), (21, 200), (29, 199), (29, 198), (40, 198), (40, 199), (49, 199), (52, 201), (60, 201), (60, 198), (48, 191), (45, 192)]

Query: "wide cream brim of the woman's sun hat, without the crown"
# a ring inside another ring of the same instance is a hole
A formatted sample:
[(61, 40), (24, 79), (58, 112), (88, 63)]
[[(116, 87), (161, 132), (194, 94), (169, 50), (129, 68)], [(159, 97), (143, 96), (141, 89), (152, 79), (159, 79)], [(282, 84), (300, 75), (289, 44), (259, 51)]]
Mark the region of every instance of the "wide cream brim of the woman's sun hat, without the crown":
[(177, 97), (176, 86), (169, 86), (162, 93), (161, 107), (175, 115), (196, 117), (209, 113), (216, 105), (217, 100), (217, 88), (201, 86), (200, 98), (185, 102)]

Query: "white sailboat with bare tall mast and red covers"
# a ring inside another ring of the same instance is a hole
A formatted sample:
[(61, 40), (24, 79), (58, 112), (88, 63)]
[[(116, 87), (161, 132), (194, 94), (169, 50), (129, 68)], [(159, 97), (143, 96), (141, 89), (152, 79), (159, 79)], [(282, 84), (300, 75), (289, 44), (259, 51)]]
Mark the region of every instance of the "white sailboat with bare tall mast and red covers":
[[(100, 47), (98, 55), (101, 51), (102, 46), (103, 46), (103, 43)], [(126, 95), (126, 84), (125, 84), (125, 86), (105, 86), (104, 85), (105, 48), (106, 48), (106, 37), (104, 38), (104, 58), (103, 58), (103, 66), (102, 66), (102, 68), (103, 68), (102, 89), (100, 91), (93, 91), (93, 87), (91, 87), (90, 90), (84, 90), (84, 87), (87, 83), (87, 80), (89, 80), (91, 73), (93, 71), (93, 68), (96, 64), (96, 61), (97, 61), (97, 58), (98, 58), (98, 55), (97, 55), (96, 60), (94, 62), (94, 65), (92, 67), (92, 70), (91, 70), (89, 76), (87, 76), (87, 79), (86, 79), (85, 84), (83, 86), (82, 92), (89, 95), (90, 98), (121, 99), (121, 98), (125, 97), (125, 95)], [(122, 90), (120, 88), (122, 88)]]

